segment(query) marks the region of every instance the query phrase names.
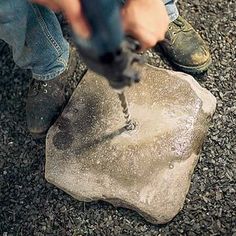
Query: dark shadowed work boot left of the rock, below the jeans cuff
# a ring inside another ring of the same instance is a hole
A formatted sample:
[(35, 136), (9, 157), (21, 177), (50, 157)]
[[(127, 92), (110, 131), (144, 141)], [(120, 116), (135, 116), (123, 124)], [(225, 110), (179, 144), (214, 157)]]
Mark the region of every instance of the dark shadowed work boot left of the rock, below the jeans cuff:
[(66, 89), (73, 78), (76, 65), (76, 50), (71, 48), (67, 69), (61, 75), (48, 81), (34, 79), (30, 84), (26, 119), (34, 138), (44, 137), (61, 114), (68, 101)]

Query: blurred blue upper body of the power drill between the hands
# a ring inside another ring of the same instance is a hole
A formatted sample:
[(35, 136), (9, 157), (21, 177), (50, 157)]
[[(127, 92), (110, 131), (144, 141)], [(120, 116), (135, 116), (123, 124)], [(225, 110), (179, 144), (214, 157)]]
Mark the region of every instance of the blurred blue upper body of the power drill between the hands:
[(120, 6), (115, 0), (81, 0), (83, 14), (91, 28), (91, 38), (77, 37), (79, 47), (100, 57), (115, 52), (124, 39)]

